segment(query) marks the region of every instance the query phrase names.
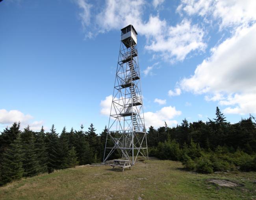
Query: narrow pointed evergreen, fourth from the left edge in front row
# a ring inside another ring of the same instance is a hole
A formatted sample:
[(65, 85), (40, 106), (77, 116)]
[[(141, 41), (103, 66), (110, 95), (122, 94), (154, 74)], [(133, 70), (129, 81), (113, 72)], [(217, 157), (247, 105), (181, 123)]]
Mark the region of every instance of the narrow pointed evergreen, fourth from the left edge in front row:
[(54, 169), (61, 168), (61, 146), (59, 144), (58, 134), (54, 128), (54, 124), (50, 129), (50, 133), (46, 133), (46, 140), (48, 141), (48, 173), (52, 173)]

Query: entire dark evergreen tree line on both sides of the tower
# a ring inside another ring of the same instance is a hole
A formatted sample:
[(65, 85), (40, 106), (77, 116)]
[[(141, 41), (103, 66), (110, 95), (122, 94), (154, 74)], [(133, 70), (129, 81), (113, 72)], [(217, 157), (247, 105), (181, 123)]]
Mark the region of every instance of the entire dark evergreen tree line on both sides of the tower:
[[(52, 173), (76, 165), (102, 162), (107, 127), (100, 134), (91, 124), (87, 131), (64, 127), (57, 133), (54, 125), (49, 132), (35, 132), (29, 126), (20, 130), (20, 123), (6, 127), (0, 135), (0, 185), (22, 177)], [(111, 133), (112, 134), (112, 133)], [(118, 137), (119, 134), (115, 133)], [(202, 173), (225, 170), (256, 170), (256, 123), (250, 115), (236, 124), (226, 121), (216, 108), (216, 118), (208, 122), (189, 123), (186, 119), (176, 127), (147, 131), (149, 156), (178, 160), (189, 170)], [(111, 141), (108, 145), (112, 146)], [(111, 155), (118, 158), (119, 154)]]

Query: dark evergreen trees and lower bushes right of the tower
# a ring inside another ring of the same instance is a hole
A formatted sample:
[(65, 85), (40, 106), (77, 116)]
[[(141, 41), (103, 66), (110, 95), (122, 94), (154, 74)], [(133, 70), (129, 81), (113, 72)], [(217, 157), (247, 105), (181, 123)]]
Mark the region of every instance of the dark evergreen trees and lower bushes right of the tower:
[(216, 118), (208, 122), (188, 123), (176, 127), (150, 127), (147, 134), (149, 155), (181, 161), (188, 170), (256, 171), (256, 121), (250, 115), (236, 124), (226, 121), (219, 108)]

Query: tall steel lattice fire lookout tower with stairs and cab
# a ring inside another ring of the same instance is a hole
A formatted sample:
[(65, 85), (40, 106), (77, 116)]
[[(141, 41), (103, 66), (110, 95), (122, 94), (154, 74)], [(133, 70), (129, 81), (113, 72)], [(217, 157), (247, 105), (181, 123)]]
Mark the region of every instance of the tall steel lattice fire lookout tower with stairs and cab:
[(132, 25), (124, 27), (121, 32), (121, 45), (103, 162), (117, 150), (122, 158), (131, 160), (132, 164), (135, 164), (139, 155), (148, 159), (137, 53), (137, 32)]

